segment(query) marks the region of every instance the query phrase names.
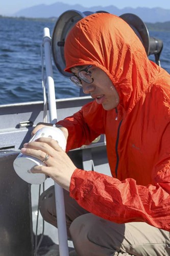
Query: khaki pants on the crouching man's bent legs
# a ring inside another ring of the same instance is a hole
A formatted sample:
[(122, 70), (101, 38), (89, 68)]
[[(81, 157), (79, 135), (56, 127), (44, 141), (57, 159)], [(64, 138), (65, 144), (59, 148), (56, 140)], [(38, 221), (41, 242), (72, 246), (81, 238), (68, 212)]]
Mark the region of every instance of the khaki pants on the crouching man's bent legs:
[[(169, 232), (144, 222), (116, 224), (90, 214), (64, 190), (66, 225), (79, 256), (170, 255)], [(54, 186), (40, 196), (45, 221), (57, 226)]]

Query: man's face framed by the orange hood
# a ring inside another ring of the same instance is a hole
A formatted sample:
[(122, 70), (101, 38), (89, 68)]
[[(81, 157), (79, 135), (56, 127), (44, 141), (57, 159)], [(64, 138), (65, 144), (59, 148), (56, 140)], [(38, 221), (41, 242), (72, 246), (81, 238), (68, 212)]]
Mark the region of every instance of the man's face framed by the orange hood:
[[(77, 76), (78, 72), (86, 67), (75, 67), (71, 69), (71, 72)], [(83, 92), (90, 94), (98, 104), (103, 105), (105, 110), (116, 108), (119, 103), (119, 95), (108, 75), (100, 68), (94, 66), (89, 68), (88, 73), (92, 76), (93, 82), (86, 83), (81, 79)]]

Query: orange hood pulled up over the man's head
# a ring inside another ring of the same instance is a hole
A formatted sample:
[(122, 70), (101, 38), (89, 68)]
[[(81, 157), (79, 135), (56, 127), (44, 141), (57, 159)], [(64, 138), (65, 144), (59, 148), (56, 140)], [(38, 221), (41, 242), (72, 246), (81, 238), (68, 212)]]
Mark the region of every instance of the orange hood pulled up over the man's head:
[(148, 59), (133, 29), (122, 18), (108, 13), (81, 19), (66, 38), (64, 54), (67, 72), (82, 65), (105, 71), (126, 110), (148, 90), (159, 70)]

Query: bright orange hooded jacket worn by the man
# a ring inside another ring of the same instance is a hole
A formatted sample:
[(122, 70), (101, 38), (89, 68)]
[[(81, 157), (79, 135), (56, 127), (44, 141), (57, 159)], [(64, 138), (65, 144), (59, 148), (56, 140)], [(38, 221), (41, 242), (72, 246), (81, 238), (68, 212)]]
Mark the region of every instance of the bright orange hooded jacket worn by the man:
[(99, 67), (120, 97), (117, 110), (106, 111), (94, 100), (58, 122), (68, 129), (67, 151), (105, 134), (113, 176), (76, 169), (70, 196), (107, 220), (142, 221), (170, 231), (169, 74), (148, 59), (130, 26), (112, 14), (81, 19), (64, 50), (66, 71)]

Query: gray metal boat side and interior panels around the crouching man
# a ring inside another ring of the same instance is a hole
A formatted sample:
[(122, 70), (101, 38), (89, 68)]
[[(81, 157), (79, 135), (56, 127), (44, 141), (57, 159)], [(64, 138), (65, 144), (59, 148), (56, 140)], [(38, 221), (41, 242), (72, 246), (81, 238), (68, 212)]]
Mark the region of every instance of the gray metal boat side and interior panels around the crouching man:
[[(88, 96), (56, 100), (58, 120), (74, 114), (91, 100)], [(21, 180), (13, 169), (13, 161), (23, 143), (30, 140), (33, 127), (43, 121), (43, 102), (0, 105), (0, 117), (0, 255), (32, 256), (39, 185), (30, 185)], [(110, 174), (104, 135), (88, 146), (70, 151), (68, 155), (79, 168)], [(47, 178), (45, 189), (53, 184), (54, 181)], [(40, 216), (38, 233), (41, 232)], [(45, 223), (44, 234), (58, 244), (56, 228)]]

